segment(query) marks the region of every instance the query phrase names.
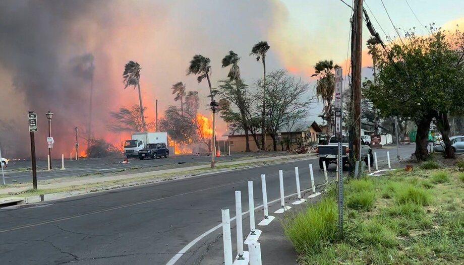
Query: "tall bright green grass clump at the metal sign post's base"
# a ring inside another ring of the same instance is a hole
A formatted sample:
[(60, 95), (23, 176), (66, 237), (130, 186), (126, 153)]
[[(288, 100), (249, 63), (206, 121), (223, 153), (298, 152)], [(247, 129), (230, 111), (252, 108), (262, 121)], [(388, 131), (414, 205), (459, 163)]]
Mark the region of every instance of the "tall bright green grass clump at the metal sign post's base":
[(333, 241), (337, 232), (338, 210), (333, 198), (308, 207), (305, 213), (286, 217), (282, 221), (285, 235), (292, 241), (298, 253), (314, 254)]

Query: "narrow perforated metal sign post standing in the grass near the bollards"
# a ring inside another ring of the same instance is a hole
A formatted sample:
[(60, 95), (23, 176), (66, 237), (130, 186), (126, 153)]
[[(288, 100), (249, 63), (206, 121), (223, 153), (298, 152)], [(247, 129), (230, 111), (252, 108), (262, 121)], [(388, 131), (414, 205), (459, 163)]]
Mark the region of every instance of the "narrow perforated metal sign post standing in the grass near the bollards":
[(343, 72), (341, 67), (335, 69), (335, 138), (338, 142), (338, 230), (343, 235), (343, 136), (342, 136), (342, 106), (343, 106)]

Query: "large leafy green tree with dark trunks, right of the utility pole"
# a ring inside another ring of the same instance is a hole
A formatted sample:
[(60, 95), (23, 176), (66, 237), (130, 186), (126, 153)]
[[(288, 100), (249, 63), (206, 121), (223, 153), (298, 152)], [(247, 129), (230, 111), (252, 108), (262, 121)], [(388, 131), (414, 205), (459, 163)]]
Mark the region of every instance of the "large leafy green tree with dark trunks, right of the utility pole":
[(390, 43), (379, 56), (378, 84), (366, 91), (381, 115), (413, 119), (417, 126), (418, 160), (428, 157), (430, 123), (437, 120), (445, 143), (445, 157), (454, 157), (449, 140), (448, 114), (464, 113), (464, 66), (460, 63), (463, 35), (431, 28), (428, 36), (405, 34), (404, 44)]

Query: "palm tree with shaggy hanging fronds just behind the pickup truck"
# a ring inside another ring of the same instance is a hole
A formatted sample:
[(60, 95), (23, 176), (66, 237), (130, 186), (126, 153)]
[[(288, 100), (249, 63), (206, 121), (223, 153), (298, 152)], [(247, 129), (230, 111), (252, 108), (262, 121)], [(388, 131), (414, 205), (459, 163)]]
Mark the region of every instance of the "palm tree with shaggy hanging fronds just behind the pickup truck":
[(335, 91), (335, 75), (332, 73), (332, 70), (335, 68), (338, 68), (338, 65), (333, 65), (332, 60), (320, 60), (314, 67), (316, 70), (315, 74), (312, 75), (312, 77), (318, 77), (316, 96), (318, 99), (319, 97), (322, 98), (322, 103), (324, 103), (322, 114), (327, 120), (327, 138), (332, 136), (332, 99)]

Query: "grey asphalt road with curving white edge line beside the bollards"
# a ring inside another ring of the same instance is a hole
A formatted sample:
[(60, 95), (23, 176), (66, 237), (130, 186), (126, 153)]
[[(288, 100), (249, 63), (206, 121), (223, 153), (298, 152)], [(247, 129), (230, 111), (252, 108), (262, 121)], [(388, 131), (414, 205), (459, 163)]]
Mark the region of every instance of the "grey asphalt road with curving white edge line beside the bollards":
[[(400, 155), (412, 151), (401, 147)], [(385, 150), (378, 152), (380, 165), (386, 164), (385, 157)], [(296, 166), (301, 188), (309, 187), (310, 163), (316, 183), (322, 183), (318, 160), (311, 158), (1, 209), (0, 264), (166, 264), (220, 223), (221, 208), (230, 208), (235, 216), (235, 190), (242, 190), (243, 210), (248, 210), (247, 181), (254, 181), (259, 206), (261, 174), (266, 174), (272, 201), (279, 196), (278, 170), (284, 171), (285, 193), (291, 194)], [(329, 171), (334, 175), (334, 165)], [(259, 221), (262, 213), (256, 215)], [(207, 234), (176, 264), (201, 260), (209, 245), (220, 244), (220, 234), (220, 229)]]

